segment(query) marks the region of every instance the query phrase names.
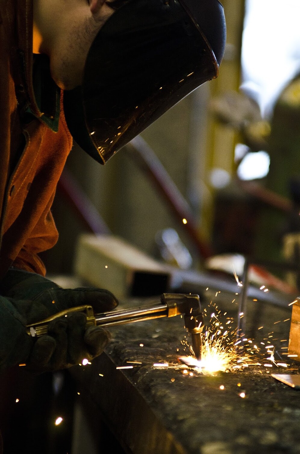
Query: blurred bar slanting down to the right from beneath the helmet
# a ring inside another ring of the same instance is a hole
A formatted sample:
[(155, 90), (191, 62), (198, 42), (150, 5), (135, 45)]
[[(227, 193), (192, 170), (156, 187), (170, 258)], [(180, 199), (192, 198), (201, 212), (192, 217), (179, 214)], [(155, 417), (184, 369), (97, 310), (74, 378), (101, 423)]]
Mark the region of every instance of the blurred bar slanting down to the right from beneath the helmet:
[[(185, 200), (150, 146), (143, 138), (137, 136), (126, 145), (125, 149), (132, 155), (135, 163), (137, 163), (141, 170), (145, 172), (146, 176), (153, 181), (155, 187), (165, 198), (176, 219), (189, 234), (200, 257), (206, 259), (212, 256), (213, 252), (210, 245), (200, 237), (193, 212), (188, 202)], [(186, 224), (182, 222), (183, 219), (187, 220)]]

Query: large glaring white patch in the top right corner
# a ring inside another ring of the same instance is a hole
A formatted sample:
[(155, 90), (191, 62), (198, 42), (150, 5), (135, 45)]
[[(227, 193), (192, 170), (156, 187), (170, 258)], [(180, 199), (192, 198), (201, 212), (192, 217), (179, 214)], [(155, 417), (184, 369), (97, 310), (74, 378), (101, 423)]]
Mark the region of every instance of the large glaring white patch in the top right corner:
[(264, 118), (271, 113), (283, 87), (299, 71), (299, 15), (299, 0), (246, 1), (243, 86), (252, 87)]

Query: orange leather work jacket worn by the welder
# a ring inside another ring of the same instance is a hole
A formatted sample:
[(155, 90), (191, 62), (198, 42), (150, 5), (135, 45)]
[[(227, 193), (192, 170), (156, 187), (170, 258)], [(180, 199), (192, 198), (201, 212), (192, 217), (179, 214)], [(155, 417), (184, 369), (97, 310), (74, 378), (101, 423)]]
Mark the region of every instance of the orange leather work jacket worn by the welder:
[(62, 102), (53, 132), (35, 99), (32, 13), (32, 0), (0, 0), (0, 277), (11, 265), (45, 274), (38, 254), (58, 239), (50, 208), (72, 147)]

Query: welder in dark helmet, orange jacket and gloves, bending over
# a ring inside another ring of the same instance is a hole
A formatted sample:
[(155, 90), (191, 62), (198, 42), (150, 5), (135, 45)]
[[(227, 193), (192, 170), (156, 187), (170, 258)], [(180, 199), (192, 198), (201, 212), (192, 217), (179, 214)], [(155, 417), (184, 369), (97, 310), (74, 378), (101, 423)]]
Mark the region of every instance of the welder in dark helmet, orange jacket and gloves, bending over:
[[(218, 0), (0, 0), (0, 370), (57, 370), (109, 340), (83, 313), (33, 341), (26, 325), (68, 307), (109, 311), (106, 290), (65, 290), (39, 253), (56, 243), (55, 188), (72, 136), (106, 161), (218, 75)], [(97, 165), (97, 164), (95, 164)]]

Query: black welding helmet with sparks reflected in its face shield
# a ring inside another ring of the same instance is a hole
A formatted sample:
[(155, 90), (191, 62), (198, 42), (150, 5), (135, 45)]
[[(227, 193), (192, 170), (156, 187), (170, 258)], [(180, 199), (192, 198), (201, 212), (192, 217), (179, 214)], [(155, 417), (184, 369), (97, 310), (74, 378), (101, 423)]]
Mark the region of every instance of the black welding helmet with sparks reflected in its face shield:
[(218, 76), (226, 26), (218, 0), (128, 0), (98, 32), (82, 85), (65, 91), (78, 145), (104, 164), (180, 99)]

